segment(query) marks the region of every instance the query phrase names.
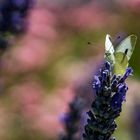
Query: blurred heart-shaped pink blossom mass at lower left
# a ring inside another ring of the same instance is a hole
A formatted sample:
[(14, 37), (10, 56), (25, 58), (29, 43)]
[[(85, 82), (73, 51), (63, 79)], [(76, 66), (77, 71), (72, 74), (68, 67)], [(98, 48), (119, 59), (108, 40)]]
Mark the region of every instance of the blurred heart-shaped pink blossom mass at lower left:
[(57, 138), (60, 131), (63, 131), (60, 116), (66, 112), (74, 91), (71, 87), (66, 87), (52, 94), (46, 95), (45, 92), (39, 82), (30, 80), (15, 86), (11, 93), (14, 112), (20, 112), (20, 117), (25, 119), (28, 128)]

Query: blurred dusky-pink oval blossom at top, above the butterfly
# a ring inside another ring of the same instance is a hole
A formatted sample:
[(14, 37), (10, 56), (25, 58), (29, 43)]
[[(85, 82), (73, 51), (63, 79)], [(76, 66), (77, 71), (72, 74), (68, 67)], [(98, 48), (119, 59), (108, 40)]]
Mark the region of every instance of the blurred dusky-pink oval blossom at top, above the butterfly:
[(64, 14), (64, 20), (67, 24), (81, 29), (100, 29), (108, 25), (106, 10), (96, 4), (89, 3), (79, 8), (71, 9)]

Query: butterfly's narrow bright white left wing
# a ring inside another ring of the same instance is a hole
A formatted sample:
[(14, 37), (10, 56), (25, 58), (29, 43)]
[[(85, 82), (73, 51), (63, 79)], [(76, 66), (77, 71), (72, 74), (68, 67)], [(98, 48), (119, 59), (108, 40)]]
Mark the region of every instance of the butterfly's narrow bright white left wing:
[(111, 64), (115, 63), (115, 57), (114, 57), (114, 47), (111, 41), (111, 37), (109, 34), (106, 35), (105, 40), (105, 59), (109, 61)]

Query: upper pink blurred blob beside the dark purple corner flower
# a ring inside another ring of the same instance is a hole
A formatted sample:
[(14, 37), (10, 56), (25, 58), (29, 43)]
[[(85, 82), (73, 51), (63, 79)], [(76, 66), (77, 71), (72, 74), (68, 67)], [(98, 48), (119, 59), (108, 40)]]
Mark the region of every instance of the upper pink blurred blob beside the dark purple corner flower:
[(54, 40), (57, 37), (56, 23), (56, 16), (53, 12), (47, 8), (35, 8), (29, 15), (28, 33), (45, 41)]

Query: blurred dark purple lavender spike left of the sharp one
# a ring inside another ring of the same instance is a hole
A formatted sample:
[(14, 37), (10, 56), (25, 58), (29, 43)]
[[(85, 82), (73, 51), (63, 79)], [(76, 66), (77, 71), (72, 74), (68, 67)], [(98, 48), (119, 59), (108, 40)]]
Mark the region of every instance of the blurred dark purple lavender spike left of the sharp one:
[(60, 140), (79, 140), (80, 139), (80, 120), (82, 110), (84, 107), (83, 99), (76, 96), (74, 100), (69, 104), (69, 112), (67, 112), (62, 118), (65, 134), (62, 134)]

